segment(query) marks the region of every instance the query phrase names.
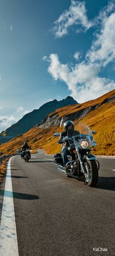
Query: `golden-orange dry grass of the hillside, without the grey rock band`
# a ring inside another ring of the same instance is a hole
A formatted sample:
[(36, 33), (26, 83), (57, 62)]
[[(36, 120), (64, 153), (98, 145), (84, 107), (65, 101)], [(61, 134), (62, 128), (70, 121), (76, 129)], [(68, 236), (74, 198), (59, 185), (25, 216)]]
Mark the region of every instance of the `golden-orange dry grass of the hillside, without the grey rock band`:
[[(101, 104), (106, 98), (115, 95), (115, 90), (111, 91), (94, 101), (84, 104), (73, 105), (69, 107), (59, 108), (55, 111), (59, 116), (76, 113), (81, 107), (91, 107)], [(50, 114), (52, 116), (53, 113)], [(98, 155), (115, 155), (115, 102), (105, 103), (100, 107), (91, 111), (84, 118), (79, 120), (86, 123), (91, 129), (95, 129), (97, 134), (95, 140), (97, 142), (96, 152)], [(75, 125), (76, 122), (75, 120)], [(15, 153), (16, 149), (21, 148), (24, 141), (27, 140), (32, 149), (43, 149), (48, 154), (54, 154), (60, 151), (60, 145), (57, 144), (58, 138), (54, 138), (55, 132), (61, 132), (63, 127), (38, 128), (35, 126), (28, 132), (19, 135), (11, 141), (0, 146), (3, 154)]]

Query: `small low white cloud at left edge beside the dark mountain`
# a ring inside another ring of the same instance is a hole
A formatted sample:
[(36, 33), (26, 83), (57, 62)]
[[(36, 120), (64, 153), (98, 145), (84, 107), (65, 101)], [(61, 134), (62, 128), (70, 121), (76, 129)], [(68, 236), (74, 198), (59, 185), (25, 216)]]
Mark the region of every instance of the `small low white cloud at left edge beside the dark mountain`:
[(17, 120), (14, 116), (0, 116), (0, 132), (2, 130), (6, 130), (8, 127), (10, 127), (12, 124), (15, 124), (16, 122)]

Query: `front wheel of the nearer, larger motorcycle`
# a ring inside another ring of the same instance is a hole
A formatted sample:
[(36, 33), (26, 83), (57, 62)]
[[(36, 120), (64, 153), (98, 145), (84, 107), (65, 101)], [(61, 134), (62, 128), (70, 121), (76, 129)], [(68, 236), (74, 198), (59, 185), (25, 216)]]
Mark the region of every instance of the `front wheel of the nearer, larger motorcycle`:
[(98, 181), (98, 169), (95, 160), (84, 160), (84, 167), (86, 173), (84, 173), (85, 182), (90, 187), (95, 187)]

